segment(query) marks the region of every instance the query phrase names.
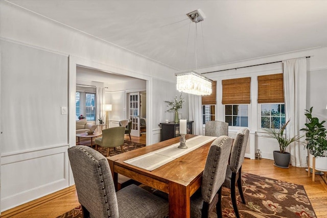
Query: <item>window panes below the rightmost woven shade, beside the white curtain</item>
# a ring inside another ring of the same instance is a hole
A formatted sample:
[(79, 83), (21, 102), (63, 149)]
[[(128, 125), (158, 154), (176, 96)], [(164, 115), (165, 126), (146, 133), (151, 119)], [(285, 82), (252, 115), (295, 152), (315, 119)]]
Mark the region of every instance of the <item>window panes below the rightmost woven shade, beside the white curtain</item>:
[(261, 104), (261, 128), (280, 129), (285, 119), (285, 104)]

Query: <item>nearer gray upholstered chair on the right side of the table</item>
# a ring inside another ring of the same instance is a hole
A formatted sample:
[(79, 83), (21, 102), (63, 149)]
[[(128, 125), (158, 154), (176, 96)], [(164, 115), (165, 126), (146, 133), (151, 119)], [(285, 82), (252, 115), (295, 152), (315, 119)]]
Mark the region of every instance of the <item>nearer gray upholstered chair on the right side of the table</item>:
[(226, 168), (232, 139), (218, 137), (209, 149), (202, 175), (201, 189), (191, 196), (191, 217), (209, 217), (215, 206), (218, 216), (221, 211), (221, 187), (225, 181)]

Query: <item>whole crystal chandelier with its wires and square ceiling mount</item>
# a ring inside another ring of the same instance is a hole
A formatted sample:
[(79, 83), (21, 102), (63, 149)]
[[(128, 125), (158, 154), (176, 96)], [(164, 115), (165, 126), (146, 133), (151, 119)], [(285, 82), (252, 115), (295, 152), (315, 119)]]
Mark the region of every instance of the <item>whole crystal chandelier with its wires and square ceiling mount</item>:
[[(196, 23), (203, 21), (204, 16), (200, 14), (200, 9), (190, 12), (186, 15)], [(202, 12), (203, 13), (203, 12)], [(195, 26), (196, 27), (196, 26)], [(197, 36), (197, 28), (196, 28)], [(196, 41), (195, 37), (195, 41)], [(195, 58), (196, 53), (195, 53)], [(197, 60), (196, 60), (197, 64)], [(197, 68), (197, 66), (195, 67)], [(195, 94), (195, 95), (208, 95), (212, 93), (212, 80), (208, 79), (201, 74), (198, 74), (196, 71), (192, 70), (189, 72), (179, 72), (175, 74), (177, 76), (176, 88), (178, 91), (185, 93)]]

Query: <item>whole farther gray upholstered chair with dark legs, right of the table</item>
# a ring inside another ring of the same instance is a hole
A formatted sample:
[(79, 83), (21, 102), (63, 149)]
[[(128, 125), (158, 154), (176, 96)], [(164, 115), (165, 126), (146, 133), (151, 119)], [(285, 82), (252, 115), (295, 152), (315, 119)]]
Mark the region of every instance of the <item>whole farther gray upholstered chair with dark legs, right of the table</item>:
[(233, 204), (236, 217), (240, 217), (236, 202), (236, 183), (239, 188), (242, 203), (245, 199), (242, 190), (242, 164), (244, 161), (247, 140), (249, 138), (249, 130), (244, 128), (237, 132), (233, 146), (230, 152), (229, 165), (227, 166), (224, 187), (230, 188), (230, 198)]

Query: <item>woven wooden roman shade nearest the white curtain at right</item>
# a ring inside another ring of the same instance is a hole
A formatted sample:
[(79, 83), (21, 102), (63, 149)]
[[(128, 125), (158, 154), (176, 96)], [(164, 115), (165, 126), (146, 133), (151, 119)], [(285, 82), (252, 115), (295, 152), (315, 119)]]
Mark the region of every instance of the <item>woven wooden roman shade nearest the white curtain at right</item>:
[(284, 103), (283, 74), (258, 76), (258, 103)]

